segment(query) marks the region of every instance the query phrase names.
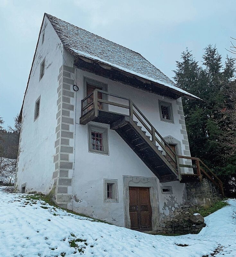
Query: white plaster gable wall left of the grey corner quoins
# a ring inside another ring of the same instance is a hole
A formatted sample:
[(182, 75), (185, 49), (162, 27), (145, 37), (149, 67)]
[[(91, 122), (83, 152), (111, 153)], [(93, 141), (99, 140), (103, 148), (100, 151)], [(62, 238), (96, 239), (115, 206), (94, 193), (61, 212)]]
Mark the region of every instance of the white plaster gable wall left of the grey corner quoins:
[[(41, 33), (23, 106), (16, 186), (20, 190), (21, 185), (27, 183), (26, 192), (48, 193), (52, 188), (52, 173), (55, 170), (57, 76), (62, 65), (62, 44), (46, 17), (43, 28), (44, 43), (41, 43)], [(40, 63), (45, 57), (45, 72), (39, 81)], [(35, 101), (40, 95), (39, 118), (34, 122)]]

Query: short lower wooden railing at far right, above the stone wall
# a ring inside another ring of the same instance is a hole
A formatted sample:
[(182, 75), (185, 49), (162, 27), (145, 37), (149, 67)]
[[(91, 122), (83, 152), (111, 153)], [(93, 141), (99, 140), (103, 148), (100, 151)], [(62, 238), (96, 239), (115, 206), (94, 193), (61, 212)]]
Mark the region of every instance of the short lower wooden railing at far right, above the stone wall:
[[(188, 159), (188, 160), (192, 160), (196, 162), (196, 165), (186, 165), (186, 164), (179, 164), (179, 167), (184, 167), (184, 168), (192, 168), (192, 169), (196, 169), (197, 174), (195, 174), (199, 181), (202, 181), (202, 175), (205, 175), (214, 185), (216, 185), (217, 187), (219, 187), (220, 192), (222, 194), (223, 197), (225, 197), (225, 192), (224, 192), (224, 187), (223, 187), (223, 183), (220, 180), (220, 178), (218, 178), (216, 176), (216, 174), (209, 168), (206, 166), (206, 164), (200, 160), (199, 158), (195, 158), (195, 157), (189, 157), (189, 156), (177, 156), (177, 159)], [(203, 166), (203, 167), (202, 167)], [(180, 174), (180, 180), (182, 180), (182, 176), (188, 176), (190, 174)]]

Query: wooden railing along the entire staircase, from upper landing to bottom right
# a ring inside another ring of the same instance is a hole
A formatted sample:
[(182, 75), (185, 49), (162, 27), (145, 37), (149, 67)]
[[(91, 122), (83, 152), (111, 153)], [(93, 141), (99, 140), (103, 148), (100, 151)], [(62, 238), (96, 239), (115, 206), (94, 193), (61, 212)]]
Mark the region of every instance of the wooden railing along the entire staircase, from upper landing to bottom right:
[[(110, 96), (112, 98), (118, 98), (122, 102), (125, 101), (126, 104), (124, 104), (124, 103), (121, 104), (121, 103), (115, 102), (114, 100), (113, 101), (108, 101), (108, 100), (105, 100), (105, 99), (99, 99), (98, 98), (98, 92), (101, 92), (102, 95), (105, 94), (107, 96), (106, 97), (107, 99), (108, 99), (108, 96)], [(86, 100), (89, 97), (91, 97), (92, 95), (93, 95), (93, 101), (84, 106), (84, 103), (86, 103)], [(176, 175), (179, 176), (180, 181), (182, 180), (182, 176), (187, 175), (187, 176), (192, 176), (192, 177), (194, 177), (194, 176), (198, 177), (198, 180), (201, 182), (202, 181), (202, 174), (204, 174), (216, 186), (218, 186), (220, 188), (220, 191), (221, 191), (222, 195), (224, 196), (223, 183), (216, 176), (216, 174), (214, 174), (211, 171), (211, 169), (209, 169), (199, 158), (189, 157), (189, 156), (178, 156), (170, 148), (169, 144), (165, 141), (165, 139), (161, 136), (161, 134), (157, 131), (157, 129), (155, 129), (155, 127), (151, 124), (151, 122), (147, 119), (147, 117), (138, 109), (138, 107), (129, 98), (120, 97), (118, 95), (102, 91), (100, 89), (95, 89), (93, 91), (93, 93), (91, 93), (90, 95), (85, 97), (83, 100), (81, 100), (81, 117), (83, 117), (84, 115), (86, 115), (87, 113), (90, 113), (92, 111), (94, 111), (93, 115), (97, 117), (98, 116), (98, 110), (100, 109), (99, 106), (98, 106), (98, 103), (101, 103), (102, 105), (107, 105), (107, 106), (116, 106), (116, 107), (120, 107), (120, 108), (123, 108), (125, 110), (128, 110), (127, 113), (129, 112), (129, 114), (125, 114), (125, 115), (129, 116), (134, 122), (139, 122), (140, 124), (142, 124), (143, 128), (146, 129), (146, 132), (150, 134), (150, 136), (147, 136), (147, 137), (150, 138), (150, 141), (153, 143), (153, 145), (157, 148), (161, 147), (161, 149), (164, 151), (164, 154), (166, 156), (169, 156), (169, 158), (172, 160), (172, 162), (176, 165), (176, 167), (177, 167), (177, 169), (175, 169), (176, 170)], [(90, 106), (92, 106), (93, 108), (90, 109), (89, 108)], [(112, 111), (109, 111), (109, 113), (122, 115), (121, 113), (112, 112)], [(143, 132), (145, 132), (145, 131), (143, 131)], [(179, 163), (180, 159), (188, 159), (188, 160), (195, 161), (196, 165), (180, 164)], [(181, 172), (180, 172), (181, 167), (183, 167), (183, 168), (193, 168), (194, 170), (196, 169), (197, 172), (195, 174), (181, 174)]]

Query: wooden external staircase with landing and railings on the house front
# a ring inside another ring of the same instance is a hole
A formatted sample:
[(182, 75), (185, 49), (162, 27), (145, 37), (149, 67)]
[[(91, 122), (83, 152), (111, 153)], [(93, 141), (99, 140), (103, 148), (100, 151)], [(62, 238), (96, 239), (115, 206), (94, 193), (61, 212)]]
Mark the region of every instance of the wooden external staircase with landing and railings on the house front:
[[(160, 182), (201, 182), (204, 176), (224, 195), (220, 179), (198, 158), (178, 156), (130, 99), (95, 89), (81, 101), (80, 124), (90, 121), (110, 124)], [(189, 159), (196, 164), (180, 164), (180, 159)], [(192, 168), (193, 174), (181, 172), (184, 168)]]

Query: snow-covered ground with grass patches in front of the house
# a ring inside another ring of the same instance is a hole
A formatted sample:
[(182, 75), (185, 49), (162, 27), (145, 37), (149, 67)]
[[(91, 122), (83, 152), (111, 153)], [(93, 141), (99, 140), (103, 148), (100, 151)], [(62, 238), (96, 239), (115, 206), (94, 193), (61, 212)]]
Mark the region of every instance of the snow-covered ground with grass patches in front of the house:
[(1, 257), (236, 256), (236, 200), (206, 217), (198, 235), (165, 237), (94, 222), (6, 189), (0, 187)]

